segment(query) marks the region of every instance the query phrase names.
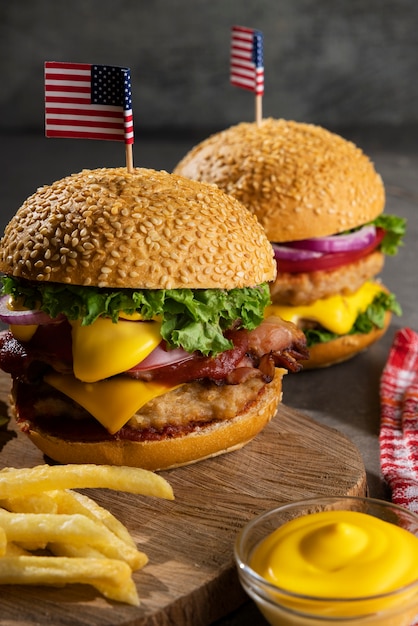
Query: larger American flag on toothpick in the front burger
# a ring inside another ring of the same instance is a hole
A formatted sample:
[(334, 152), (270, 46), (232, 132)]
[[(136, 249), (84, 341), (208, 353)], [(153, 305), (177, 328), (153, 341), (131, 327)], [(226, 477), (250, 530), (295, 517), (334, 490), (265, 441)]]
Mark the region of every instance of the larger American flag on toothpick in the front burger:
[(45, 135), (132, 144), (129, 68), (47, 61)]

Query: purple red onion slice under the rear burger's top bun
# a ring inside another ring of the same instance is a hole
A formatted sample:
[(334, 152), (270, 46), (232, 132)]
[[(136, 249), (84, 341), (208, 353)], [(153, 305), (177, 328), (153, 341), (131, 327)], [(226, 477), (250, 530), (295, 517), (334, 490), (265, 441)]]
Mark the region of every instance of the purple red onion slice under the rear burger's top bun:
[(351, 250), (362, 250), (371, 244), (375, 237), (376, 228), (370, 224), (347, 235), (331, 235), (329, 237), (289, 241), (286, 242), (286, 246), (302, 250), (313, 250), (315, 252), (350, 252)]

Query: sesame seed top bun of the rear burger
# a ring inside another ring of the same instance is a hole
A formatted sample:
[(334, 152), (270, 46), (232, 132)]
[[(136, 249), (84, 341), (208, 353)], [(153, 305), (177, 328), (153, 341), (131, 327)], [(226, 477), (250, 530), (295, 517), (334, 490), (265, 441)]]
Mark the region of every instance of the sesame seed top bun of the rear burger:
[(385, 204), (382, 180), (360, 148), (320, 126), (283, 119), (216, 133), (174, 171), (216, 183), (245, 204), (276, 242), (360, 226)]

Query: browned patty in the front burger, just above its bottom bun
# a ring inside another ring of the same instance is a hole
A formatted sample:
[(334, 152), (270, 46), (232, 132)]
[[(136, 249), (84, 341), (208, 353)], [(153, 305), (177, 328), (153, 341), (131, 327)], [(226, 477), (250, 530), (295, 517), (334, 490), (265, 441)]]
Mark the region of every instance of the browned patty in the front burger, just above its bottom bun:
[[(278, 369), (276, 376), (286, 370)], [(129, 422), (110, 435), (83, 407), (47, 384), (14, 384), (14, 410), (21, 430), (33, 424), (68, 439), (160, 439), (180, 436), (205, 424), (232, 419), (248, 411), (266, 383), (251, 378), (239, 385), (187, 383), (145, 404)], [(279, 402), (280, 398), (278, 398)]]

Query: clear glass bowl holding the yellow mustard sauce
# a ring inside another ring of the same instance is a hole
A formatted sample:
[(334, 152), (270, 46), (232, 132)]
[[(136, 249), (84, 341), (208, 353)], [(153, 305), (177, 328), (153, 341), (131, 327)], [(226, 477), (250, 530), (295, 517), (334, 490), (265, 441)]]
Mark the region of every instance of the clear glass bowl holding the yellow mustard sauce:
[[(412, 626), (418, 620), (416, 580), (375, 596), (347, 598), (290, 593), (264, 579), (249, 565), (255, 547), (276, 528), (294, 518), (319, 511), (359, 511), (401, 526), (418, 537), (418, 515), (373, 498), (320, 497), (279, 506), (252, 519), (235, 542), (238, 576), (246, 593), (272, 626)], [(418, 624), (418, 621), (417, 621)]]

